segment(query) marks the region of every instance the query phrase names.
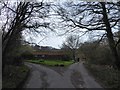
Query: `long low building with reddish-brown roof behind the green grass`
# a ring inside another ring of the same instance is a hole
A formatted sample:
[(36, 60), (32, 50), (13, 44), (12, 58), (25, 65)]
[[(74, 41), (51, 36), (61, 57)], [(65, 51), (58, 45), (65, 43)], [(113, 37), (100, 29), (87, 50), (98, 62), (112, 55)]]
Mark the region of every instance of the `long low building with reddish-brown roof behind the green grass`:
[(46, 52), (34, 52), (33, 55), (37, 59), (49, 59), (49, 60), (68, 60), (69, 57), (60, 51), (46, 51)]

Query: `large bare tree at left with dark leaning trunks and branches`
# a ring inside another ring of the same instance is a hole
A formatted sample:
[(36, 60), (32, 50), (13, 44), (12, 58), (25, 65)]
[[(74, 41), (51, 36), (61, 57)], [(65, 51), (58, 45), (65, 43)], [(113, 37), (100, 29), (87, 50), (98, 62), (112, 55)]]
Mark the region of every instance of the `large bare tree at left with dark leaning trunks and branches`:
[(47, 17), (49, 7), (43, 2), (1, 2), (3, 8), (1, 10), (1, 18), (5, 18), (2, 25), (2, 66), (4, 69), (8, 50), (17, 36), (22, 31), (41, 33), (37, 28), (48, 27), (49, 23), (42, 22), (41, 19)]

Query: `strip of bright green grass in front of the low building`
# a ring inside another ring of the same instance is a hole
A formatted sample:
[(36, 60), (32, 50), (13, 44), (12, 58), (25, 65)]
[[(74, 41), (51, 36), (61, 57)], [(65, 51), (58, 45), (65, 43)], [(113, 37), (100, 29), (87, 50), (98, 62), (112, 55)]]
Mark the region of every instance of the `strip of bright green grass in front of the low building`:
[(62, 61), (62, 60), (27, 60), (27, 62), (36, 63), (36, 64), (43, 64), (48, 66), (68, 66), (73, 64), (73, 61)]

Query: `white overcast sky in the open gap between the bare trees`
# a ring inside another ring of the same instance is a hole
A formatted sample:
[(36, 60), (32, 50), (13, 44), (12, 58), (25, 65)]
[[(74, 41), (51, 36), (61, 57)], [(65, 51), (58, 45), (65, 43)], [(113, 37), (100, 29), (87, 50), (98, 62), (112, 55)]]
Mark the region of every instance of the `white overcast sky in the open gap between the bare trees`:
[[(53, 3), (60, 3), (60, 4), (62, 4), (64, 1), (74, 1), (74, 2), (77, 2), (78, 0), (43, 0), (43, 1), (44, 2), (47, 1), (47, 2), (53, 2)], [(54, 14), (54, 12), (51, 12), (51, 13)], [(25, 35), (25, 36), (27, 36), (26, 39), (31, 41), (31, 42), (33, 42), (33, 43), (36, 43), (36, 44), (38, 44), (40, 46), (52, 46), (54, 48), (60, 48), (62, 46), (62, 43), (66, 40), (66, 37), (71, 35), (71, 33), (65, 34), (63, 36), (59, 36), (59, 34), (64, 33), (65, 29), (69, 30), (70, 28), (60, 28), (59, 26), (60, 26), (61, 23), (59, 23), (60, 20), (58, 19), (57, 16), (52, 16), (51, 18), (45, 19), (45, 20), (47, 22), (55, 23), (55, 26), (58, 27), (58, 28), (55, 28), (55, 31), (57, 33), (51, 32), (49, 29), (46, 29), (46, 31), (47, 31), (46, 35), (44, 35), (44, 36), (38, 35), (37, 37), (31, 36), (32, 40), (28, 37), (28, 35)], [(81, 35), (81, 34), (82, 33), (77, 32), (77, 35)], [(85, 42), (88, 39), (89, 39), (89, 35), (85, 35), (85, 36), (81, 37), (81, 42)]]

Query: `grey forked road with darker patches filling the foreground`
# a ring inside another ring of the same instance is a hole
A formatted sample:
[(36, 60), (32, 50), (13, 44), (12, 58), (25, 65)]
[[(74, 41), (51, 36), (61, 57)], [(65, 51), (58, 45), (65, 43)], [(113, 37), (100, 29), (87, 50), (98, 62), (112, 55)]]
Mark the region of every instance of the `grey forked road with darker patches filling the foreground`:
[(62, 72), (58, 67), (25, 63), (31, 68), (31, 74), (24, 88), (102, 88), (90, 76), (82, 63), (75, 63)]

